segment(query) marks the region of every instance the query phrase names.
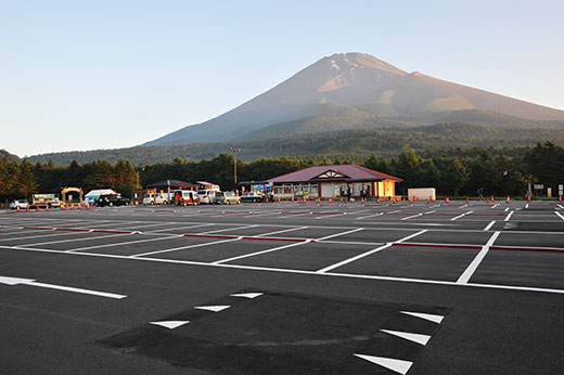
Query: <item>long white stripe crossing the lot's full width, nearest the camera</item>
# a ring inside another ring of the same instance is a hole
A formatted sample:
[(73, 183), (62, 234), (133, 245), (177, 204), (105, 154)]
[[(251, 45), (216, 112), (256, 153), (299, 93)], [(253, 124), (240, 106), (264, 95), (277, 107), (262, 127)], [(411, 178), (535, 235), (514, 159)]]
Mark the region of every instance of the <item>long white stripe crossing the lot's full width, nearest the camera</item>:
[[(299, 244), (302, 244), (302, 243), (299, 243)], [(297, 245), (299, 245), (299, 244), (297, 244)], [(171, 264), (185, 264), (185, 266), (198, 266), (198, 267), (217, 267), (217, 268), (228, 268), (228, 269), (234, 269), (234, 270), (251, 270), (251, 271), (289, 273), (289, 274), (319, 275), (319, 276), (329, 276), (329, 277), (377, 280), (377, 281), (388, 281), (388, 282), (399, 282), (399, 283), (477, 287), (477, 288), (485, 288), (485, 289), (520, 290), (520, 292), (551, 293), (551, 294), (564, 295), (564, 289), (542, 288), (542, 287), (534, 287), (534, 286), (478, 284), (478, 283), (457, 284), (456, 282), (444, 281), (444, 280), (379, 276), (379, 275), (364, 275), (364, 274), (337, 273), (337, 272), (319, 273), (317, 271), (293, 270), (293, 269), (284, 269), (284, 268), (269, 268), (269, 267), (244, 266), (244, 264), (215, 264), (215, 263), (208, 263), (208, 262), (202, 262), (202, 261), (195, 261), (195, 260), (137, 258), (137, 257), (132, 257), (132, 256), (121, 256), (121, 255), (103, 254), (103, 253), (65, 253), (62, 250), (52, 250), (52, 249), (47, 249), (47, 248), (29, 248), (29, 247), (4, 246), (4, 245), (0, 245), (0, 249), (49, 253), (49, 254), (65, 254), (65, 255), (73, 255), (73, 256), (85, 256), (85, 257), (120, 259), (120, 260), (141, 260), (141, 261), (151, 261), (151, 262), (156, 262), (156, 263), (171, 263)]]

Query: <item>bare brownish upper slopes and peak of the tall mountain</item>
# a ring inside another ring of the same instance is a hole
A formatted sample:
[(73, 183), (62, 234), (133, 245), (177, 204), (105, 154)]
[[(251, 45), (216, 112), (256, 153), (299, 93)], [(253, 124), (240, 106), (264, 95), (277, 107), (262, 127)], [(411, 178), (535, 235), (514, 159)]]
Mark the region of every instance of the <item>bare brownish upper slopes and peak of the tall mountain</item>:
[[(564, 121), (563, 111), (416, 72), (408, 74), (368, 54), (346, 53), (323, 57), (232, 111), (144, 145), (228, 141), (274, 124), (338, 114), (343, 109), (350, 109), (350, 106), (392, 122), (428, 124), (441, 118), (447, 120), (453, 112), (458, 112), (456, 120), (464, 122), (465, 115), (475, 119), (474, 111)], [(500, 118), (496, 116), (499, 122)], [(498, 126), (503, 126), (503, 122)], [(286, 134), (290, 130), (286, 130)], [(298, 127), (292, 131), (296, 130), (299, 133)], [(336, 129), (325, 129), (329, 130)]]

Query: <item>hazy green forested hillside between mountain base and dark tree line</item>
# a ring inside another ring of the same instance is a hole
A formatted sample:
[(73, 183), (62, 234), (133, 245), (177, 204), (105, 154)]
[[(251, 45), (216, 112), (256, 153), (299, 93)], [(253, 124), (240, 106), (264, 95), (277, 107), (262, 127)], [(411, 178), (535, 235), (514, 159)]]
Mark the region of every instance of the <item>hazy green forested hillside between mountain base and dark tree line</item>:
[(246, 160), (282, 156), (358, 155), (364, 157), (372, 153), (379, 156), (396, 155), (407, 145), (415, 151), (434, 153), (457, 147), (533, 146), (547, 140), (564, 145), (564, 130), (508, 129), (450, 122), (420, 127), (350, 129), (291, 137), (277, 135), (265, 140), (64, 152), (36, 155), (28, 159), (31, 163), (48, 163), (52, 159), (56, 165), (68, 165), (72, 160), (81, 164), (98, 159), (117, 163), (119, 158), (125, 158), (133, 165), (140, 165), (170, 161), (177, 156), (189, 160), (210, 159), (228, 152), (230, 146), (241, 147), (243, 151), (239, 155)]

